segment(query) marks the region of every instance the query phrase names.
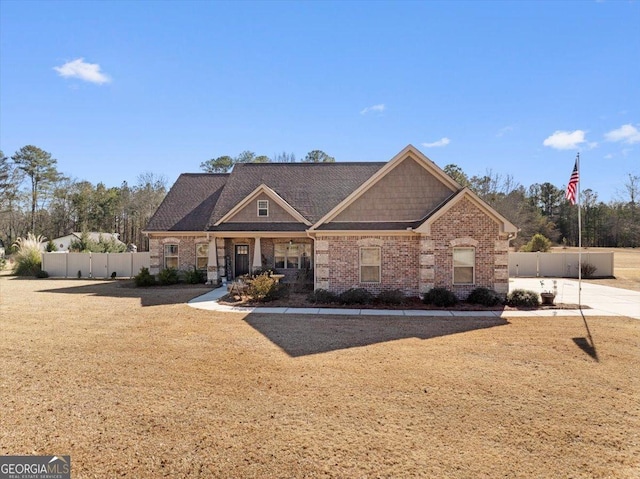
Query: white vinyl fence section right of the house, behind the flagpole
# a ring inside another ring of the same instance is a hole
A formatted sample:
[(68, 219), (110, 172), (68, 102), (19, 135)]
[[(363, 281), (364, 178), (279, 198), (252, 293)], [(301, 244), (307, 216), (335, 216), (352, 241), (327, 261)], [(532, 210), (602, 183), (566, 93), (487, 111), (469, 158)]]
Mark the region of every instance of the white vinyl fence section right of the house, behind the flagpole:
[[(593, 277), (613, 276), (613, 253), (582, 253), (582, 264), (596, 267)], [(578, 253), (509, 253), (512, 278), (577, 278)]]

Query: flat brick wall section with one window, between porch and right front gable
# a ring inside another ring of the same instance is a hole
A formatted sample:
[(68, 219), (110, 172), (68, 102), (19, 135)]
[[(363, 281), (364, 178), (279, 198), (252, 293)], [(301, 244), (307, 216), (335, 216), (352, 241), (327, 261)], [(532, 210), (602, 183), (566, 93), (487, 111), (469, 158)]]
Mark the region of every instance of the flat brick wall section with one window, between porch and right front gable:
[[(379, 246), (382, 253), (381, 282), (360, 283), (360, 247)], [(418, 296), (417, 235), (318, 236), (316, 239), (316, 289), (341, 293), (364, 288), (373, 294), (399, 289)]]

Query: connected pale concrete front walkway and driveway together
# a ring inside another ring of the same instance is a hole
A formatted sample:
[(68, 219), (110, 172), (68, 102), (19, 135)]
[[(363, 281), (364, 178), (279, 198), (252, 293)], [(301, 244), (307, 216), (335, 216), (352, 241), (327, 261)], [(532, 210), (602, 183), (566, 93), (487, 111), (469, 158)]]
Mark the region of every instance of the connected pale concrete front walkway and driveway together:
[[(544, 289), (553, 290), (554, 278), (543, 278)], [(578, 281), (556, 279), (556, 303), (578, 304)], [(538, 278), (512, 278), (509, 290), (530, 289), (540, 292), (542, 287)], [(628, 316), (640, 319), (640, 292), (609, 286), (582, 283), (582, 304), (591, 309), (546, 309), (535, 311), (443, 311), (443, 310), (390, 310), (390, 309), (340, 309), (340, 308), (273, 308), (268, 306), (242, 307), (226, 306), (218, 299), (227, 294), (225, 287), (209, 291), (189, 301), (192, 308), (229, 313), (274, 313), (274, 314), (324, 314), (324, 315), (362, 315), (362, 316), (439, 316), (439, 317), (518, 317), (518, 316)]]

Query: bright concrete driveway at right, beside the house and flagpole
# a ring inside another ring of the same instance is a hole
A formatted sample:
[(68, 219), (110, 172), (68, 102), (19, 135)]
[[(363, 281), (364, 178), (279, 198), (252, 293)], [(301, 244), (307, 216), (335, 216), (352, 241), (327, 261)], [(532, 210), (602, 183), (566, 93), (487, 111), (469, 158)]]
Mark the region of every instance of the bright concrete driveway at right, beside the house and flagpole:
[[(544, 281), (545, 290), (553, 290), (553, 282), (556, 281), (556, 303), (578, 304), (578, 280), (566, 278), (510, 278), (509, 291), (514, 289), (530, 289), (540, 293)], [(591, 310), (583, 310), (585, 314), (597, 316), (629, 316), (640, 319), (640, 292), (628, 289), (612, 288), (586, 281), (582, 282), (582, 305), (587, 305)]]

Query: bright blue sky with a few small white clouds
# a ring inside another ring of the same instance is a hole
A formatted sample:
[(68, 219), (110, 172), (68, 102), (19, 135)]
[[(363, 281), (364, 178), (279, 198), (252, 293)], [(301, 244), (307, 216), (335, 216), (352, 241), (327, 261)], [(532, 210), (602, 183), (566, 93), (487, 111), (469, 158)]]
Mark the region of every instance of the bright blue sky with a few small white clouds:
[(640, 174), (640, 2), (0, 1), (0, 148), (171, 184), (243, 150), (440, 167), (604, 201)]

